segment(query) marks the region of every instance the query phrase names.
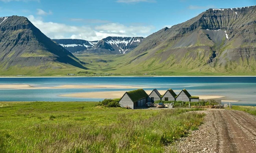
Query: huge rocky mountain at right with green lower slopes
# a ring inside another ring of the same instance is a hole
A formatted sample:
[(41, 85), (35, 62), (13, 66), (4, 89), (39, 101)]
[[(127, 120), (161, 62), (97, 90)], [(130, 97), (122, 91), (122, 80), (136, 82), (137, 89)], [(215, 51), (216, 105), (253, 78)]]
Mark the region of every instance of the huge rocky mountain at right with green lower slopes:
[(144, 38), (118, 59), (129, 74), (255, 75), (256, 6), (208, 9)]

